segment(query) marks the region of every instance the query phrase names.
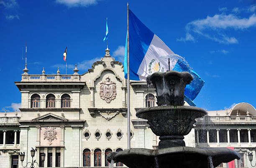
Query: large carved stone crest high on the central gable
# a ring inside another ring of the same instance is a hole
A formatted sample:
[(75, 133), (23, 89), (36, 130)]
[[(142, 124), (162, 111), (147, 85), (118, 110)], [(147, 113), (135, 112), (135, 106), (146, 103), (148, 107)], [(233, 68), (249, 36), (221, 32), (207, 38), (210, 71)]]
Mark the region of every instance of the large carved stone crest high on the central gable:
[(110, 103), (116, 96), (116, 84), (110, 81), (110, 77), (106, 77), (106, 81), (100, 83), (100, 98)]

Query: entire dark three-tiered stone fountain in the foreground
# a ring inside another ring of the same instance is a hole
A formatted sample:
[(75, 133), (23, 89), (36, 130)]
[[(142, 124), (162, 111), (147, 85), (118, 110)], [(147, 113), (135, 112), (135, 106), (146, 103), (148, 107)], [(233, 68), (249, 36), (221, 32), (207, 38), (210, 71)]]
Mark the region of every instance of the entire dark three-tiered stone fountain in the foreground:
[(183, 141), (195, 124), (195, 119), (205, 116), (204, 109), (184, 106), (184, 89), (192, 82), (188, 72), (155, 72), (147, 82), (156, 88), (156, 107), (137, 111), (136, 116), (147, 119), (159, 139), (159, 149), (132, 148), (112, 152), (111, 162), (122, 162), (129, 168), (214, 168), (220, 163), (240, 159), (240, 155), (228, 148), (192, 148)]

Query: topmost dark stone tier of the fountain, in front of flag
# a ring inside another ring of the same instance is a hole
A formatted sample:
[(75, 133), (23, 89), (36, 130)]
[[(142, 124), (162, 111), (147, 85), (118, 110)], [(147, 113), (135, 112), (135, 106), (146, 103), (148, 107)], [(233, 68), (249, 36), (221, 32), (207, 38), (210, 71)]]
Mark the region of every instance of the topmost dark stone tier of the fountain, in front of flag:
[(184, 89), (193, 80), (188, 72), (155, 72), (147, 77), (147, 82), (154, 84), (158, 106), (183, 106)]

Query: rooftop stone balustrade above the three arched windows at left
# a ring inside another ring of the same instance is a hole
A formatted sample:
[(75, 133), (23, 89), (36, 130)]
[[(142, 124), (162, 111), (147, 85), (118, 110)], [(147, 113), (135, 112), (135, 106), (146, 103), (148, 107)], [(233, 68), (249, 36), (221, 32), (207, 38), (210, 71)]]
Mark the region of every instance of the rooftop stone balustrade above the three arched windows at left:
[(22, 74), (21, 82), (80, 82), (79, 74), (65, 75), (65, 74)]

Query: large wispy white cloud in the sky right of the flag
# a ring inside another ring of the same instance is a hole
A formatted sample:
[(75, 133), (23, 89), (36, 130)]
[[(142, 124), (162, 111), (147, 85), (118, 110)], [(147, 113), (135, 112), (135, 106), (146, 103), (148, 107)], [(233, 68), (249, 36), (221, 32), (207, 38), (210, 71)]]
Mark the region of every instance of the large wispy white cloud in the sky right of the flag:
[(177, 41), (194, 41), (193, 33), (219, 43), (236, 44), (238, 43), (236, 37), (228, 37), (224, 33), (225, 30), (244, 30), (253, 26), (256, 26), (255, 14), (248, 18), (239, 18), (233, 14), (216, 14), (212, 17), (207, 16), (205, 19), (198, 19), (187, 23), (186, 37), (181, 37)]

